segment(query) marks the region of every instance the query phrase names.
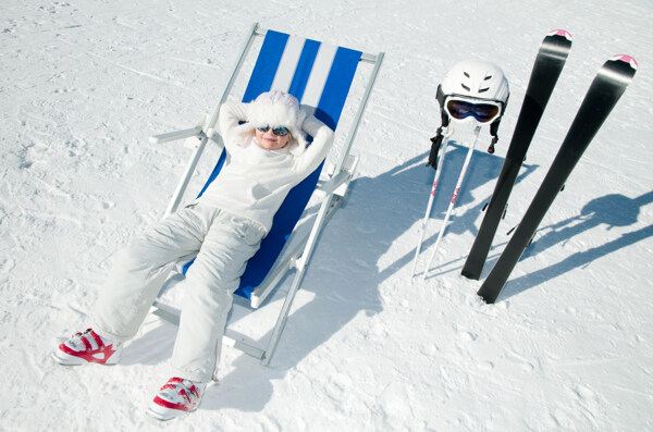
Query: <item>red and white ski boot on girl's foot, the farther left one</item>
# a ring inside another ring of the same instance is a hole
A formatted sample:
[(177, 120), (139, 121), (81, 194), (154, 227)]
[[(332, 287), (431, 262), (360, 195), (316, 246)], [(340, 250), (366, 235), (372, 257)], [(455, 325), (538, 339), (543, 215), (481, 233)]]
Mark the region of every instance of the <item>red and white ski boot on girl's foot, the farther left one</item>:
[(52, 358), (60, 365), (77, 366), (85, 363), (115, 365), (122, 355), (122, 344), (101, 337), (91, 329), (76, 333), (59, 345)]

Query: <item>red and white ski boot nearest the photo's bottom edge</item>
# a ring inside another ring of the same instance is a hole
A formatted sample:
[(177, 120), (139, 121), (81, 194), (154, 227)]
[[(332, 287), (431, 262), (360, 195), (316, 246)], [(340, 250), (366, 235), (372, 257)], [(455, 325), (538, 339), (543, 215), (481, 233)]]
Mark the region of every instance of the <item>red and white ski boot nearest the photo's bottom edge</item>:
[(155, 396), (147, 414), (158, 420), (170, 420), (193, 412), (199, 406), (201, 392), (202, 383), (171, 378)]

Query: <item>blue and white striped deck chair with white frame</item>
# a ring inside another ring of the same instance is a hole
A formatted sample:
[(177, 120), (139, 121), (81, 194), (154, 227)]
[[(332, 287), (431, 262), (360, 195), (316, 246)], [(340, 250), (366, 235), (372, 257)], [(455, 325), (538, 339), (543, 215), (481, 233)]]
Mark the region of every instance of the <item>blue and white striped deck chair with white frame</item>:
[[(291, 270), (296, 271), (264, 348), (246, 336), (231, 331), (229, 324), (225, 329), (223, 342), (226, 345), (260, 359), (261, 363), (267, 366), (274, 355), (318, 236), (325, 222), (346, 197), (348, 184), (358, 162), (358, 159), (350, 156), (349, 151), (379, 73), (383, 53), (364, 53), (264, 29), (259, 27), (258, 24), (254, 24), (243, 44), (224, 94), (205, 124), (150, 138), (152, 143), (165, 143), (176, 139), (188, 141), (188, 138), (194, 138), (196, 141), (195, 151), (165, 211), (167, 215), (174, 212), (178, 207), (207, 143), (213, 140), (223, 146), (222, 137), (215, 131), (219, 109), (232, 92), (236, 77), (257, 37), (263, 37), (263, 40), (242, 100), (250, 102), (258, 95), (268, 90), (287, 91), (294, 95), (303, 106), (315, 108), (313, 115), (333, 131), (336, 129), (341, 119), (343, 107), (345, 107), (352, 83), (357, 76), (356, 72), (359, 64), (372, 65), (369, 77), (364, 79), (364, 83), (367, 81), (367, 84), (364, 84), (362, 95), (354, 118), (350, 120), (349, 131), (344, 140), (344, 150), (338, 161), (330, 170), (324, 170), (329, 171), (326, 175), (321, 175), (324, 165), (324, 162), (322, 162), (312, 174), (289, 192), (276, 212), (272, 229), (261, 243), (259, 251), (248, 261), (245, 273), (241, 279), (241, 286), (235, 293), (247, 298), (250, 308), (256, 309), (263, 304), (286, 273)], [(336, 133), (336, 143), (337, 137), (338, 134)], [(310, 137), (308, 138), (310, 141)], [(225, 160), (226, 151), (223, 150), (199, 195), (220, 174)], [(319, 192), (318, 194), (313, 194), (316, 189)], [(318, 195), (319, 202), (311, 206), (319, 208), (317, 213), (310, 218), (312, 226), (310, 226), (310, 230), (304, 230), (304, 235), (299, 239), (294, 238), (293, 242), (288, 242), (293, 233), (297, 231), (297, 222), (300, 219), (306, 219), (304, 214), (307, 203), (309, 200), (311, 202), (315, 200), (311, 196)], [(286, 247), (291, 243), (292, 247)], [(188, 264), (186, 264), (186, 268)], [(153, 304), (153, 313), (170, 322), (178, 323), (180, 310), (164, 304), (160, 298)]]

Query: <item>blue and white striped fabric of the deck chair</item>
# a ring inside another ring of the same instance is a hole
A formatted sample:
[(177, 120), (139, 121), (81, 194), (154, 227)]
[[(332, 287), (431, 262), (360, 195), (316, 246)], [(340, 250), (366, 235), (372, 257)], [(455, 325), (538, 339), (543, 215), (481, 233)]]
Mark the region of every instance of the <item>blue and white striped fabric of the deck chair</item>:
[[(286, 91), (303, 106), (313, 108), (313, 115), (335, 131), (360, 55), (360, 51), (348, 48), (268, 30), (243, 102), (251, 102), (264, 91)], [(219, 174), (225, 158), (223, 151), (204, 189)], [(322, 165), (289, 192), (274, 217), (272, 230), (249, 260), (236, 294), (249, 298), (263, 281), (301, 217), (321, 170)]]

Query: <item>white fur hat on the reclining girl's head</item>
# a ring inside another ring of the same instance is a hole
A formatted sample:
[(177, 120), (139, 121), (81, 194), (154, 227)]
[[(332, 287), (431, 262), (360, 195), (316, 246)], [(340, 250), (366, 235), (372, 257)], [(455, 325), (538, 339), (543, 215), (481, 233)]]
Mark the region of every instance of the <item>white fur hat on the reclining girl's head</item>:
[(299, 108), (299, 102), (293, 95), (279, 90), (267, 91), (249, 103), (248, 121), (237, 126), (236, 131), (243, 137), (250, 137), (257, 127), (287, 127), (291, 131), (288, 151), (299, 155), (305, 150), (307, 144), (306, 136), (301, 131), (305, 119), (306, 113)]

